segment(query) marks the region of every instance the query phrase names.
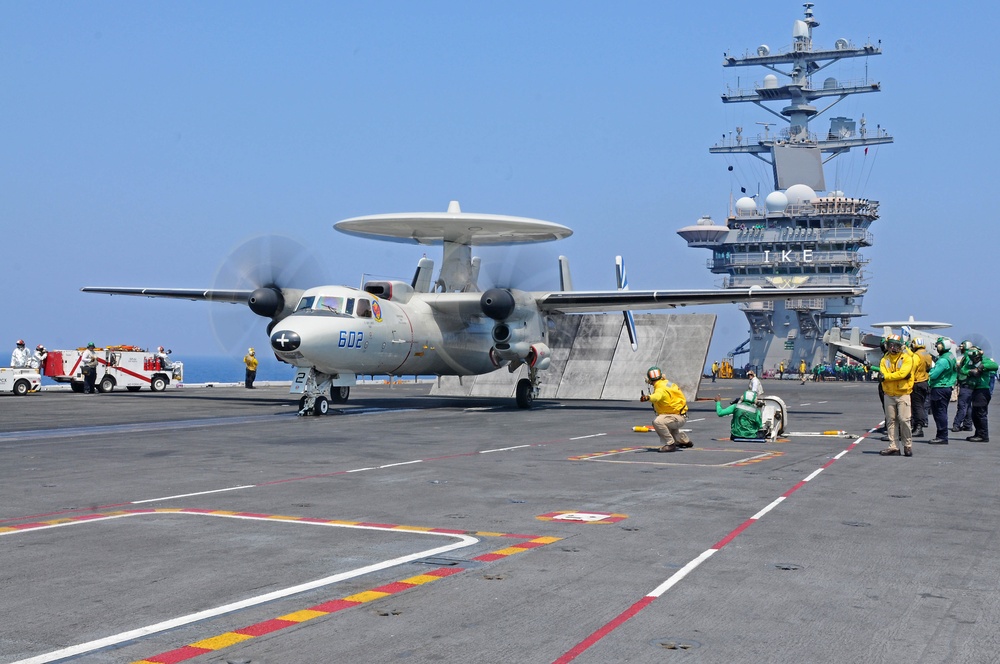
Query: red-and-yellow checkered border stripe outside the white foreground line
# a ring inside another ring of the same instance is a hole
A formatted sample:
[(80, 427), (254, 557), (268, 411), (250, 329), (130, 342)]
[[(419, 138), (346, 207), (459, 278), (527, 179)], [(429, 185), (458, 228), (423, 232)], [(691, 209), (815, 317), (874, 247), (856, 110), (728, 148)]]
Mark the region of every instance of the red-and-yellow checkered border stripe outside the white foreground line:
[[(93, 519), (103, 519), (113, 516), (121, 516), (126, 514), (153, 514), (153, 513), (180, 513), (180, 514), (217, 514), (224, 516), (245, 516), (253, 517), (255, 519), (273, 519), (277, 521), (303, 521), (308, 523), (319, 523), (319, 524), (333, 524), (341, 526), (367, 526), (370, 528), (378, 528), (382, 530), (397, 530), (397, 531), (409, 531), (415, 533), (444, 533), (451, 535), (475, 535), (479, 537), (506, 537), (511, 539), (522, 540), (516, 544), (513, 544), (490, 553), (485, 553), (480, 556), (476, 556), (473, 560), (479, 562), (493, 562), (495, 560), (502, 560), (516, 553), (523, 553), (524, 551), (530, 551), (531, 549), (544, 546), (546, 544), (551, 544), (553, 542), (558, 542), (560, 537), (536, 537), (534, 535), (521, 535), (512, 533), (497, 533), (497, 532), (479, 532), (479, 531), (467, 531), (467, 530), (454, 530), (448, 528), (427, 528), (419, 526), (401, 526), (389, 523), (370, 523), (365, 521), (341, 521), (336, 519), (316, 519), (312, 517), (297, 517), (297, 516), (284, 516), (278, 514), (257, 514), (253, 512), (232, 512), (226, 510), (206, 510), (206, 509), (183, 509), (183, 508), (151, 508), (151, 509), (135, 509), (135, 510), (119, 510), (114, 512), (102, 512), (99, 514), (87, 514), (77, 517), (52, 519), (50, 521), (39, 521), (34, 523), (25, 523), (16, 526), (6, 526), (0, 528), (0, 533), (13, 532), (13, 531), (23, 531), (31, 530), (33, 528), (43, 528), (48, 526), (74, 523), (79, 521), (88, 521)], [(265, 634), (270, 634), (278, 630), (285, 629), (286, 627), (292, 627), (293, 625), (299, 625), (316, 618), (323, 616), (328, 616), (332, 613), (342, 611), (344, 609), (349, 609), (361, 604), (366, 604), (368, 602), (373, 602), (383, 597), (388, 597), (390, 595), (395, 595), (396, 593), (403, 592), (404, 590), (409, 590), (417, 586), (422, 586), (424, 584), (430, 583), (432, 581), (437, 581), (445, 577), (451, 576), (453, 574), (458, 574), (464, 571), (462, 568), (456, 567), (439, 567), (437, 569), (430, 570), (423, 574), (418, 574), (416, 576), (411, 576), (406, 579), (401, 579), (399, 581), (394, 581), (392, 583), (379, 586), (377, 588), (372, 588), (364, 592), (355, 593), (353, 595), (348, 595), (347, 597), (342, 597), (339, 599), (330, 600), (317, 604), (316, 606), (311, 606), (306, 609), (301, 609), (299, 611), (294, 611), (283, 616), (278, 616), (271, 620), (265, 620), (264, 622), (257, 623), (255, 625), (249, 625), (242, 629), (237, 629), (232, 632), (226, 632), (225, 634), (219, 634), (218, 636), (213, 636), (211, 638), (202, 639), (201, 641), (196, 641), (195, 643), (189, 643), (186, 646), (176, 648), (167, 652), (160, 653), (159, 655), (153, 655), (152, 657), (147, 657), (146, 659), (137, 660), (133, 664), (174, 664), (175, 662), (183, 662), (189, 659), (193, 659), (205, 653), (217, 652), (224, 648), (236, 645), (237, 643), (242, 643), (249, 639), (253, 639), (258, 636), (263, 636)]]

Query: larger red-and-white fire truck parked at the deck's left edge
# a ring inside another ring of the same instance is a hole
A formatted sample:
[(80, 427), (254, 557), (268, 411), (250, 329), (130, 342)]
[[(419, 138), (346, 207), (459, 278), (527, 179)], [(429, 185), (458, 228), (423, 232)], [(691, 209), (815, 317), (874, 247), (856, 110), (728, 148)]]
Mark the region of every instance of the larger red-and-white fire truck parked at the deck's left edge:
[[(58, 383), (69, 383), (74, 392), (83, 392), (80, 357), (85, 350), (50, 350), (45, 358), (45, 375)], [(171, 382), (179, 385), (184, 380), (182, 362), (167, 365), (156, 353), (137, 346), (107, 346), (95, 348), (94, 352), (97, 353), (94, 385), (100, 392), (111, 392), (116, 387), (124, 387), (129, 392), (138, 392), (144, 387), (162, 392)]]

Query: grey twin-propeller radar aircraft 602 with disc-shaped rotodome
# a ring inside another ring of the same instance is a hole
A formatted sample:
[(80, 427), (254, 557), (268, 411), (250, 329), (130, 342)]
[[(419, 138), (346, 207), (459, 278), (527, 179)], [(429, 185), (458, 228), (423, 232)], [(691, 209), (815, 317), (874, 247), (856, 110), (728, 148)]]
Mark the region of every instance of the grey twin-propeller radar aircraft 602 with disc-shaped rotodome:
[[(546, 242), (572, 235), (566, 226), (505, 215), (448, 211), (355, 217), (334, 224), (351, 235), (394, 242), (442, 245), (441, 269), (420, 259), (410, 283), (369, 281), (361, 289), (317, 286), (308, 290), (261, 284), (247, 290), (181, 288), (81, 288), (86, 293), (138, 295), (246, 304), (270, 319), (267, 332), (277, 358), (299, 368), (292, 393), (300, 413), (322, 415), (346, 401), (359, 375), (472, 376), (522, 365), (517, 405), (529, 408), (539, 372), (548, 368), (548, 318), (558, 314), (623, 311), (633, 348), (632, 310), (669, 309), (784, 298), (854, 297), (863, 289), (761, 288), (628, 290), (619, 259), (618, 290), (576, 291), (560, 257), (558, 291), (479, 288), (480, 258), (473, 246)], [(327, 397), (329, 395), (329, 399)]]

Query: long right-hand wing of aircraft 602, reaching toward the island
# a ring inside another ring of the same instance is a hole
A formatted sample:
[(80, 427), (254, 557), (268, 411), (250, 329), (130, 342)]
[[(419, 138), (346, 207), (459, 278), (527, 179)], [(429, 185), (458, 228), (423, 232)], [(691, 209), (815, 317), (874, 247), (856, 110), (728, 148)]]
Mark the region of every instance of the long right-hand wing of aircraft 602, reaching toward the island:
[(706, 288), (698, 290), (563, 291), (543, 293), (538, 307), (546, 312), (585, 313), (628, 309), (673, 309), (689, 304), (732, 304), (767, 300), (855, 297), (864, 288)]

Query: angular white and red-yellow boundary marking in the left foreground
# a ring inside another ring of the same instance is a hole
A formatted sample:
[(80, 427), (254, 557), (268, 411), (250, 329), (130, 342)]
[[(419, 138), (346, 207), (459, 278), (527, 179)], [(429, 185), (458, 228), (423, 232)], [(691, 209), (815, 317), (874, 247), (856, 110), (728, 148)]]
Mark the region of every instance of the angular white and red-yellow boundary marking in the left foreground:
[[(96, 639), (75, 646), (70, 646), (68, 648), (61, 648), (59, 650), (44, 653), (41, 655), (36, 655), (33, 657), (29, 657), (27, 659), (18, 660), (17, 662), (14, 662), (14, 664), (43, 664), (45, 662), (55, 662), (61, 659), (76, 657), (79, 655), (90, 653), (95, 650), (113, 647), (127, 641), (133, 641), (145, 636), (175, 629), (183, 625), (188, 625), (194, 622), (215, 618), (217, 616), (233, 613), (235, 611), (264, 604), (266, 602), (271, 602), (274, 600), (282, 599), (309, 590), (322, 588), (324, 586), (333, 585), (340, 581), (357, 578), (365, 574), (389, 569), (392, 567), (397, 567), (405, 563), (412, 563), (421, 559), (429, 559), (433, 558), (434, 556), (440, 556), (441, 554), (450, 551), (455, 551), (458, 549), (463, 549), (472, 546), (474, 544), (478, 544), (480, 542), (479, 538), (504, 537), (504, 538), (517, 539), (521, 541), (512, 544), (510, 546), (504, 547), (502, 549), (498, 549), (496, 551), (475, 556), (474, 558), (470, 559), (471, 561), (493, 562), (496, 560), (502, 560), (515, 553), (522, 553), (524, 551), (544, 546), (546, 544), (557, 542), (561, 539), (559, 537), (538, 537), (534, 535), (523, 535), (523, 534), (508, 534), (508, 533), (497, 533), (497, 532), (486, 532), (486, 531), (465, 531), (465, 530), (453, 530), (447, 528), (430, 528), (430, 527), (419, 527), (419, 526), (401, 526), (401, 525), (384, 524), (384, 523), (368, 523), (363, 521), (341, 521), (335, 519), (317, 519), (312, 517), (258, 514), (252, 512), (232, 512), (227, 510), (184, 509), (184, 508), (122, 510), (116, 512), (106, 512), (106, 513), (88, 514), (83, 516), (69, 517), (62, 519), (53, 519), (50, 521), (25, 523), (14, 526), (4, 526), (0, 527), (0, 537), (37, 532), (40, 530), (50, 530), (66, 526), (97, 523), (101, 521), (107, 521), (109, 519), (121, 519), (126, 517), (150, 516), (150, 515), (160, 515), (160, 514), (211, 516), (211, 517), (222, 517), (230, 519), (246, 519), (253, 521), (270, 522), (274, 524), (292, 523), (292, 524), (339, 527), (339, 528), (349, 528), (349, 529), (353, 528), (353, 529), (369, 530), (369, 531), (375, 530), (375, 531), (404, 532), (404, 533), (412, 533), (414, 535), (431, 535), (438, 537), (448, 537), (455, 539), (457, 541), (451, 544), (447, 544), (445, 546), (439, 546), (407, 554), (405, 556), (400, 556), (390, 560), (384, 560), (371, 565), (366, 565), (364, 567), (359, 567), (356, 569), (348, 570), (331, 576), (315, 579), (313, 581), (308, 581), (306, 583), (289, 586), (287, 588), (266, 593), (264, 595), (249, 597), (247, 599), (243, 599), (237, 602), (232, 602), (230, 604), (225, 604), (222, 606), (206, 609), (196, 613), (179, 616), (177, 618), (171, 618), (169, 620), (158, 622), (152, 625), (147, 625), (145, 627), (128, 630), (126, 632), (121, 632), (119, 634), (114, 634), (101, 639)], [(290, 627), (292, 625), (297, 625), (307, 620), (312, 620), (313, 618), (325, 616), (330, 613), (340, 611), (342, 609), (371, 602), (376, 599), (381, 599), (382, 597), (386, 597), (387, 595), (401, 592), (409, 588), (414, 588), (420, 585), (424, 585), (426, 583), (429, 583), (430, 581), (435, 581), (437, 579), (444, 578), (452, 574), (455, 574), (457, 572), (463, 571), (463, 569), (464, 568), (461, 567), (454, 568), (447, 566), (436, 568), (424, 574), (418, 574), (416, 576), (408, 577), (406, 579), (402, 579), (400, 581), (396, 581), (394, 583), (390, 583), (384, 586), (379, 586), (377, 588), (373, 588), (365, 592), (355, 593), (347, 597), (326, 601), (307, 609), (295, 611), (293, 613), (279, 616), (278, 618), (268, 620), (262, 623), (257, 623), (255, 625), (250, 625), (248, 627), (235, 630), (233, 632), (227, 632), (225, 634), (212, 637), (210, 639), (204, 639), (202, 641), (198, 641), (196, 643), (183, 646), (182, 648), (171, 650), (166, 653), (161, 653), (159, 655), (155, 655), (153, 657), (139, 661), (153, 663), (153, 664), (165, 664), (167, 662), (172, 663), (172, 662), (184, 661), (205, 654), (207, 652), (220, 650), (222, 648), (234, 645), (236, 643), (245, 641), (247, 639), (254, 638), (256, 636), (269, 634), (271, 632), (284, 629), (285, 627)]]

